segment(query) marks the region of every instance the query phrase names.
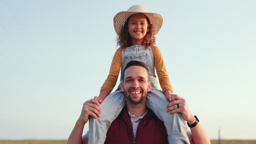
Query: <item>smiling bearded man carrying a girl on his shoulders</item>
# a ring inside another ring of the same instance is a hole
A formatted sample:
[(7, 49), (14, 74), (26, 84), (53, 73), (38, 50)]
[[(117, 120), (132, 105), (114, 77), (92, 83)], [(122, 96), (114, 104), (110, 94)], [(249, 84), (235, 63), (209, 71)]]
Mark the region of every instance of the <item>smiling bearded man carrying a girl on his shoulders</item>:
[[(131, 61), (123, 76), (121, 91), (125, 93), (126, 107), (110, 125), (105, 143), (168, 143), (164, 123), (146, 107), (147, 93), (151, 90), (147, 66), (142, 62)], [(84, 124), (88, 122), (89, 116), (100, 117), (99, 105), (97, 97), (84, 103), (68, 143), (88, 143), (88, 137), (82, 137)], [(185, 121), (193, 126), (190, 128), (193, 134), (191, 143), (210, 143), (200, 123), (179, 95), (172, 95), (166, 111), (171, 114), (181, 112)]]

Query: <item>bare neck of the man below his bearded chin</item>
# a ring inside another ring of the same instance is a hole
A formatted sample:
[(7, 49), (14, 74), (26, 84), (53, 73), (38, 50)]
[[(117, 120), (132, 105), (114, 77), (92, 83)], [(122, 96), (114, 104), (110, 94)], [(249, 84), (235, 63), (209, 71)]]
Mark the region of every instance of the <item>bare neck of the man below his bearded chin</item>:
[(146, 111), (146, 103), (140, 103), (140, 104), (132, 104), (132, 103), (126, 103), (127, 110), (132, 114), (135, 115), (135, 117), (143, 116)]

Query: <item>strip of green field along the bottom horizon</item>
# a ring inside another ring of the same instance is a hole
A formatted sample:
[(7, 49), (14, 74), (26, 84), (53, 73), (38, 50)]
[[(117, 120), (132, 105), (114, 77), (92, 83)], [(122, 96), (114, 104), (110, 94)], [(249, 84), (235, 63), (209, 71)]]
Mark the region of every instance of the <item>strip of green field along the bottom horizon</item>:
[[(212, 144), (218, 144), (218, 140), (211, 140)], [(19, 140), (19, 141), (0, 141), (0, 144), (64, 144), (66, 140)], [(222, 140), (220, 144), (256, 144), (256, 140)]]

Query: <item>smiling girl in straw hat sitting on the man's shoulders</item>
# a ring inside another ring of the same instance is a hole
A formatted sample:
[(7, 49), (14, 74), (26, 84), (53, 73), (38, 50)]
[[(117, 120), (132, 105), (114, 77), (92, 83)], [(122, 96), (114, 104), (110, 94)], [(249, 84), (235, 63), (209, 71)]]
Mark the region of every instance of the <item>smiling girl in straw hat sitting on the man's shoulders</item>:
[[(110, 124), (119, 115), (125, 105), (124, 93), (117, 91), (109, 94), (114, 88), (121, 69), (121, 74), (130, 61), (142, 61), (147, 64), (150, 73), (152, 91), (147, 96), (147, 106), (165, 123), (169, 143), (189, 143), (187, 125), (181, 113), (170, 115), (166, 106), (171, 100), (172, 86), (167, 75), (164, 60), (158, 47), (154, 46), (154, 35), (162, 26), (162, 16), (148, 13), (143, 5), (133, 5), (127, 11), (114, 16), (114, 28), (118, 34), (120, 48), (115, 52), (109, 75), (101, 87), (98, 97), (101, 105), (101, 117), (90, 118), (89, 143), (104, 143)], [(162, 91), (157, 89), (156, 73)], [(123, 75), (121, 75), (122, 79)], [(120, 82), (121, 83), (121, 82)], [(104, 101), (103, 101), (104, 100)], [(177, 107), (179, 107), (177, 105)]]

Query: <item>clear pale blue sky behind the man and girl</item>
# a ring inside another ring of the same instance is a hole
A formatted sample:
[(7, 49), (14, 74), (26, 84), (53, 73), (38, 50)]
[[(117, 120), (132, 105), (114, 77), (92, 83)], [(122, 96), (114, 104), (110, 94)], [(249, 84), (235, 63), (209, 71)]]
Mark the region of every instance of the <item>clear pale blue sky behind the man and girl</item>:
[(113, 17), (142, 4), (164, 17), (174, 93), (211, 139), (256, 139), (256, 1), (0, 1), (0, 139), (67, 139), (99, 94)]

